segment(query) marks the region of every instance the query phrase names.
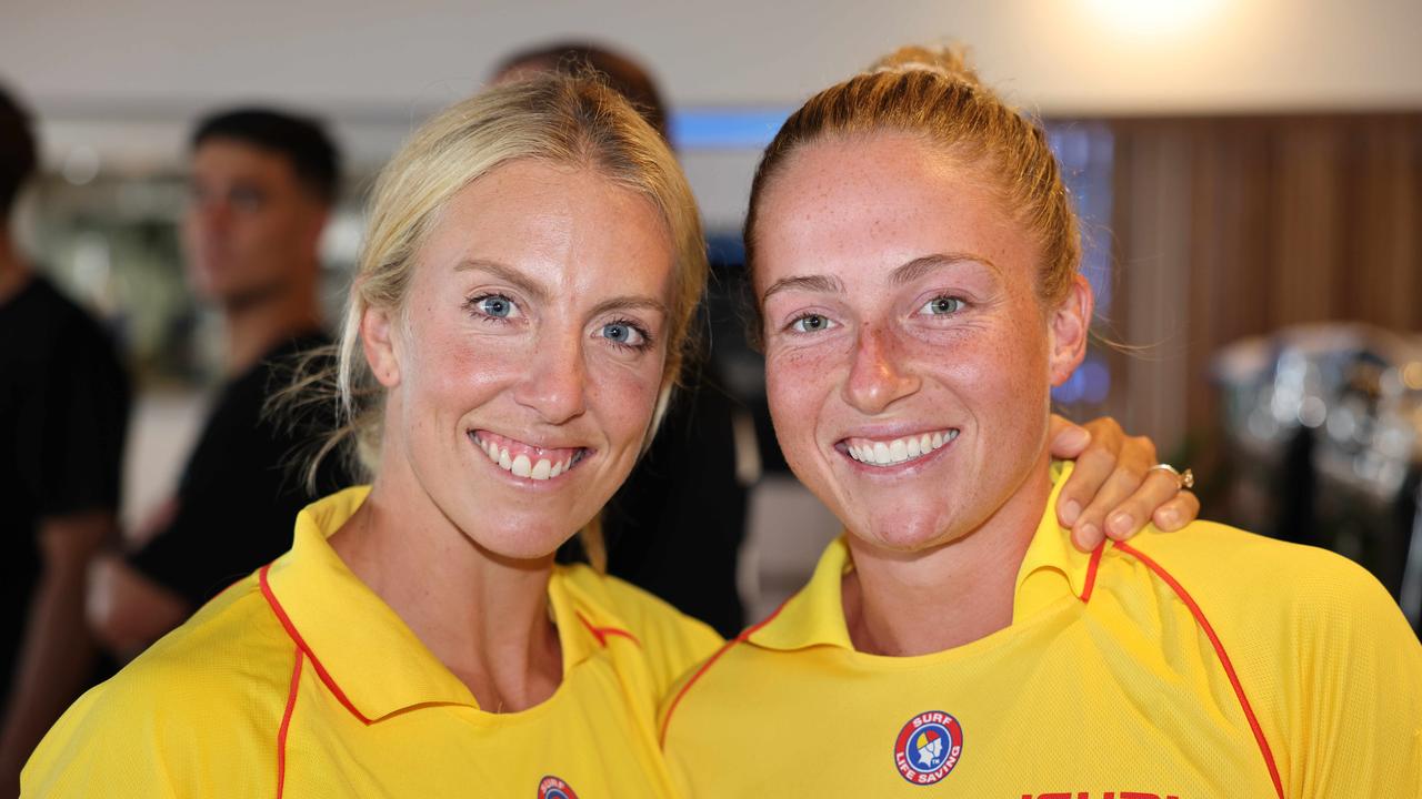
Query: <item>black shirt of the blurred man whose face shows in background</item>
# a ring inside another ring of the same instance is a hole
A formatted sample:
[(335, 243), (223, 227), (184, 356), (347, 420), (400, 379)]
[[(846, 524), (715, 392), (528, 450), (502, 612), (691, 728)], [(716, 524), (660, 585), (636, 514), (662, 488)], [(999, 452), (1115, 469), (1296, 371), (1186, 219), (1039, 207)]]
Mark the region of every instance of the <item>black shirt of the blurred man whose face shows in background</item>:
[(333, 418), (292, 424), (263, 414), (300, 353), (327, 344), (319, 333), (286, 341), (223, 387), (183, 468), (173, 518), (128, 556), (134, 569), (196, 607), (290, 549), (297, 512), (350, 485), (327, 458), (317, 490), (304, 488), (303, 454)]

